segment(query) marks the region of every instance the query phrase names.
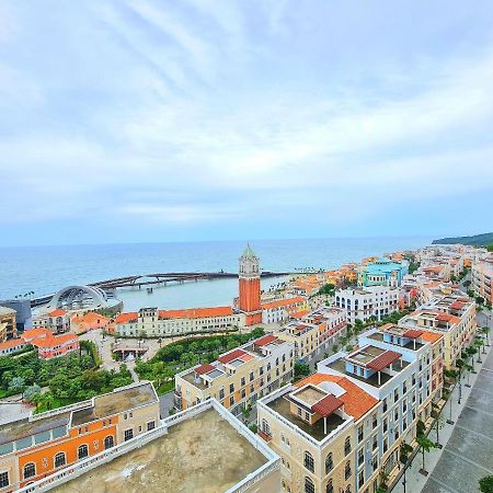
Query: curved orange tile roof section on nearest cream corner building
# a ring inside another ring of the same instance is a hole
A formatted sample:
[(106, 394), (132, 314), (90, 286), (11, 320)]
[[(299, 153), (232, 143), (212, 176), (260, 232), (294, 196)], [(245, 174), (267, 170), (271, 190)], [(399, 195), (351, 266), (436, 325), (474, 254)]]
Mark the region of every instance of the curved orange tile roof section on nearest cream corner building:
[(317, 386), (323, 381), (333, 381), (346, 391), (340, 395), (339, 399), (344, 402), (344, 412), (352, 415), (355, 420), (359, 420), (378, 403), (377, 399), (365, 392), (356, 383), (353, 383), (345, 377), (313, 374), (295, 385), (296, 387), (302, 387), (307, 383), (313, 383)]

